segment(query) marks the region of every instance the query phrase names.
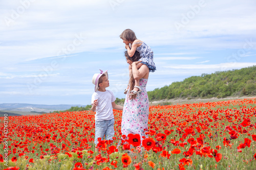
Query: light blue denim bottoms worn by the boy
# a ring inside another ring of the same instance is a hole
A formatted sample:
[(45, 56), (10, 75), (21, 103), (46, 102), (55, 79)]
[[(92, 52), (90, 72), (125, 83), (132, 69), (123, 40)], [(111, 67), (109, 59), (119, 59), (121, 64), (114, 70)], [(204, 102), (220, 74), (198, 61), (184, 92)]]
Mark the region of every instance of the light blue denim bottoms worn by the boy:
[(103, 140), (104, 135), (106, 140), (113, 140), (112, 137), (115, 134), (114, 123), (114, 118), (110, 120), (95, 121), (95, 144), (98, 144), (99, 137)]

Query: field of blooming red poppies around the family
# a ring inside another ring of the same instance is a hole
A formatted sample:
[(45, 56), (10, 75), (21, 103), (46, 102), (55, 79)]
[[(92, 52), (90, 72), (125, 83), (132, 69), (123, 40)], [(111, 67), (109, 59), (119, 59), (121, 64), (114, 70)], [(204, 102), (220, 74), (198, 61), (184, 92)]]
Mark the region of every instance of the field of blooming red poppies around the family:
[(121, 134), (114, 110), (115, 136), (97, 151), (94, 114), (1, 117), (0, 169), (256, 169), (256, 98), (150, 106), (142, 141)]

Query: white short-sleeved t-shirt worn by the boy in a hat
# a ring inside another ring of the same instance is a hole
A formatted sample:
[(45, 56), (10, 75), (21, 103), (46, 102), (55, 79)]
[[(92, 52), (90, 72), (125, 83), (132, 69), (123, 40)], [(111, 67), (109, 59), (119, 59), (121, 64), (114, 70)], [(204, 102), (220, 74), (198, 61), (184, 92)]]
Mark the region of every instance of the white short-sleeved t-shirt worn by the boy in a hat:
[(111, 120), (114, 118), (112, 102), (115, 102), (116, 98), (112, 91), (106, 90), (96, 91), (92, 95), (92, 104), (93, 101), (98, 99), (98, 106), (96, 106), (95, 120)]

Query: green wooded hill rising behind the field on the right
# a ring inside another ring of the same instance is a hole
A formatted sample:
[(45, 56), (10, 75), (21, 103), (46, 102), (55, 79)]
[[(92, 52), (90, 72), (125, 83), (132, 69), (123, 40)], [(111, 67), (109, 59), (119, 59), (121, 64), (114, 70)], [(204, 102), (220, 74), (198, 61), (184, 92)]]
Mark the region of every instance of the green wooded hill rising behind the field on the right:
[(256, 66), (202, 74), (148, 91), (150, 101), (176, 98), (225, 98), (256, 94)]

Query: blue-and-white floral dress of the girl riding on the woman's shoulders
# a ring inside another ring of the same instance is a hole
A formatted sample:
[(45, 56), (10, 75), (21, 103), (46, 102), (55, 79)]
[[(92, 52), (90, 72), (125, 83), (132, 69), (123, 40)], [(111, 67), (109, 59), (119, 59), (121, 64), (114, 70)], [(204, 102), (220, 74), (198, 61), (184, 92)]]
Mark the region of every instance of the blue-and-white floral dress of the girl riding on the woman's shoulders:
[(143, 64), (146, 64), (151, 72), (154, 72), (156, 70), (156, 65), (153, 61), (153, 51), (151, 50), (151, 47), (145, 44), (145, 42), (135, 42), (135, 43), (136, 44), (141, 43), (141, 45), (136, 48), (136, 51), (139, 52), (141, 56), (139, 61), (141, 61), (141, 63)]

